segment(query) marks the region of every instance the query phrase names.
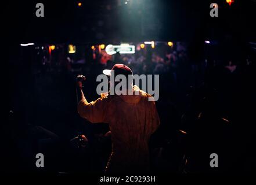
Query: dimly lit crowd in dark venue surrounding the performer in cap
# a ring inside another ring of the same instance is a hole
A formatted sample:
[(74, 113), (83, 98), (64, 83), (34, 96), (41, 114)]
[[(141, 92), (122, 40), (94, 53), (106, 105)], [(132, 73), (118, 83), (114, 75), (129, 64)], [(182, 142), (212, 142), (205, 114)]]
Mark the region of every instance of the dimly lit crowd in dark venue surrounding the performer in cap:
[[(160, 75), (156, 102), (160, 127), (150, 138), (153, 173), (250, 173), (255, 157), (255, 43), (140, 43), (135, 54), (109, 56), (95, 45), (19, 46), (12, 56), (9, 123), (1, 131), (11, 150), (5, 171), (103, 173), (111, 153), (111, 133), (77, 113), (75, 77), (86, 76), (88, 101), (96, 77), (116, 63), (134, 74)], [(200, 48), (200, 49), (199, 49)], [(45, 168), (35, 166), (44, 154)], [(218, 154), (211, 168), (210, 154)], [(8, 165), (7, 165), (8, 164)], [(15, 168), (13, 169), (13, 166)]]

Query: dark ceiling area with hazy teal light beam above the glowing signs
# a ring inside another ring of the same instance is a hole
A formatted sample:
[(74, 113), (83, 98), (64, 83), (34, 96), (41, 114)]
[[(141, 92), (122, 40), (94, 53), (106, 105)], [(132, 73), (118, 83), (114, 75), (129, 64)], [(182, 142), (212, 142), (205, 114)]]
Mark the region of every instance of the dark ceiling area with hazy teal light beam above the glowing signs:
[[(256, 1), (219, 5), (210, 17), (212, 1), (185, 0), (40, 1), (45, 17), (36, 17), (38, 1), (10, 1), (1, 12), (13, 42), (97, 43), (140, 40), (217, 39), (226, 35), (255, 40)], [(78, 2), (82, 6), (78, 6)]]

